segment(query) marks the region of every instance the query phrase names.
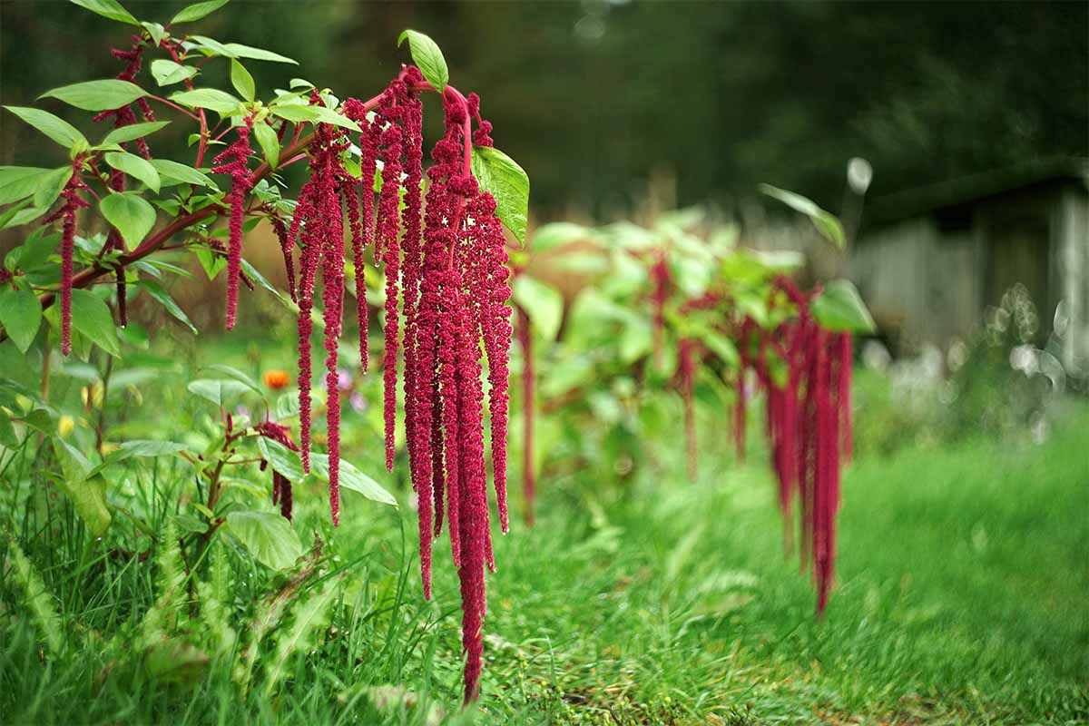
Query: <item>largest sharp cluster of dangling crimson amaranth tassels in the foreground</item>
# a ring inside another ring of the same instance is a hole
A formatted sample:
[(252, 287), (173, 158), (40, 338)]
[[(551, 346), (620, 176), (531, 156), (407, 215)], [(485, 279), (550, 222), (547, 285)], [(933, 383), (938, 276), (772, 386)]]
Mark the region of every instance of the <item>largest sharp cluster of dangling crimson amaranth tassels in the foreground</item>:
[[(299, 308), (302, 458), (307, 470), (310, 315), (319, 269), (323, 282), (329, 481), (334, 524), (339, 521), (340, 392), (335, 366), (343, 315), (343, 216), (346, 213), (352, 234), (359, 353), (365, 371), (364, 250), (368, 243), (375, 244), (376, 264), (386, 275), (382, 356), (386, 462), (392, 468), (397, 349), (403, 332), (405, 432), (419, 509), (424, 595), (431, 594), (431, 542), (441, 533), (445, 519), (462, 583), (465, 699), (469, 701), (479, 692), (484, 651), (480, 627), (487, 611), (485, 568), (494, 571), (488, 525), (481, 348), (488, 365), (493, 482), (503, 531), (507, 526), (507, 368), (513, 335), (507, 305), (510, 273), (495, 200), (481, 192), (470, 175), (472, 144), (491, 145), (491, 125), (479, 118), (479, 100), (475, 96), (466, 99), (450, 87), (443, 91), (445, 133), (431, 151), (435, 163), (427, 170), (429, 185), (426, 205), (423, 204), (423, 106), (417, 95), (425, 88), (419, 71), (406, 67), (381, 96), (366, 103), (345, 101), (345, 115), (363, 130), (360, 179), (345, 170), (344, 132), (320, 124), (310, 143), (310, 177), (299, 193), (290, 227), (278, 234), (289, 269), (296, 237), (302, 250), (295, 292)], [(320, 102), (316, 94), (311, 102)], [(473, 119), (477, 125), (475, 133)], [(382, 187), (375, 213), (371, 184), (379, 161)], [(282, 497), (283, 488), (278, 492)]]

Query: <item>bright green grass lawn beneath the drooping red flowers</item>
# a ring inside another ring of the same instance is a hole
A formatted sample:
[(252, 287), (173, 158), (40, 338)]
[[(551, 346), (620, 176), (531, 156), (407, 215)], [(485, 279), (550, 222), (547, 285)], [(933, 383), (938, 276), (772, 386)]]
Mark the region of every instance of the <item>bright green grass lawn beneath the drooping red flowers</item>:
[[(163, 401), (184, 389), (180, 380), (162, 379)], [(144, 396), (154, 403), (159, 392)], [(157, 423), (162, 438), (188, 424), (181, 405), (150, 408), (145, 428), (172, 411)], [(329, 554), (326, 578), (306, 592), (334, 582), (340, 594), (330, 626), (285, 662), (284, 679), (269, 693), (241, 696), (229, 665), (198, 662), (185, 677), (163, 679), (127, 643), (110, 645), (156, 598), (155, 568), (131, 555), (149, 540), (122, 517), (106, 539), (90, 538), (49, 491), (27, 446), (0, 482), (0, 528), (41, 573), (68, 645), (48, 652), (4, 564), (0, 723), (1089, 719), (1084, 406), (1042, 445), (969, 439), (854, 464), (837, 589), (820, 623), (807, 577), (784, 558), (761, 453), (734, 466), (717, 455), (725, 446), (710, 441), (717, 432), (708, 426), (694, 483), (682, 473), (683, 446), (666, 448), (626, 485), (585, 475), (543, 479), (538, 525), (514, 522), (495, 541), (484, 698), (466, 713), (456, 709), (460, 613), (446, 540), (436, 545), (435, 596), (426, 603), (403, 482), (384, 480), (399, 509), (348, 499), (335, 531), (319, 491), (296, 494), (304, 541), (320, 532)], [(354, 445), (367, 447), (359, 458), (378, 471), (368, 435)], [(186, 485), (170, 463), (134, 466), (125, 480), (131, 506), (143, 502), (155, 527), (181, 506)], [(38, 489), (27, 496), (30, 487)], [(231, 625), (245, 635), (255, 601), (282, 590), (282, 577), (225, 540), (217, 546), (234, 573)], [(272, 657), (274, 649), (266, 651)]]

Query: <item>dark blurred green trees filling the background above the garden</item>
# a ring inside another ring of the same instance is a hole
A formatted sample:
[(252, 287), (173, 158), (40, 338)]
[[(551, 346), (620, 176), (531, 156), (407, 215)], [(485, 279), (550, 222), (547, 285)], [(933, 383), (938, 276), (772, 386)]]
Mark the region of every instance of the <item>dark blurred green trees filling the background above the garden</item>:
[[(186, 3), (125, 4), (162, 21)], [(9, 0), (0, 24), (4, 103), (117, 70), (105, 49), (124, 30), (66, 3)], [(681, 204), (768, 181), (836, 209), (852, 156), (872, 162), (876, 195), (1089, 156), (1085, 2), (235, 0), (199, 27), (302, 63), (253, 63), (259, 81), (302, 74), (341, 94), (393, 75), (402, 28), (429, 33), (457, 85), (486, 91), (497, 144), (547, 216), (623, 212), (661, 167)], [(0, 143), (11, 163), (38, 139), (4, 114)]]

